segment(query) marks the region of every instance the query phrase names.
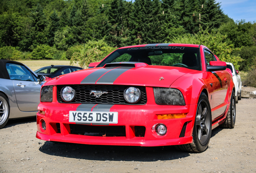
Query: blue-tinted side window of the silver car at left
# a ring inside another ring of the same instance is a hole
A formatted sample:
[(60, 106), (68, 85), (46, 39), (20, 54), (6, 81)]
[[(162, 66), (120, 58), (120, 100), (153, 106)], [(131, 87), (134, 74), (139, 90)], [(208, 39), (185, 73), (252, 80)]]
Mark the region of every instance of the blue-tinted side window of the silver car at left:
[(10, 79), (12, 80), (35, 82), (35, 78), (31, 74), (31, 72), (29, 72), (29, 70), (22, 65), (6, 63), (6, 69), (9, 73)]

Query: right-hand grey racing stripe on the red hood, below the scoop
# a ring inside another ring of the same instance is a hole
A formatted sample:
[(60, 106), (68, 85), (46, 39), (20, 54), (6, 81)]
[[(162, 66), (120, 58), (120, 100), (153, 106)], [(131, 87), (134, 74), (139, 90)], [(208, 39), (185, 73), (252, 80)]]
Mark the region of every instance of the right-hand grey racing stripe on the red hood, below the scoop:
[(113, 84), (114, 81), (124, 72), (134, 67), (118, 67), (104, 74), (96, 84)]

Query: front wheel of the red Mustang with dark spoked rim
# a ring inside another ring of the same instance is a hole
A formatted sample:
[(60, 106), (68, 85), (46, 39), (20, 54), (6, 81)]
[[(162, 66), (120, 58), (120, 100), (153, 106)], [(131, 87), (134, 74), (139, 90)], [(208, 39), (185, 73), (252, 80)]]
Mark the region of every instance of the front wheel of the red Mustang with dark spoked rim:
[(201, 93), (196, 110), (196, 118), (193, 128), (193, 142), (190, 144), (177, 145), (183, 151), (201, 153), (209, 145), (212, 133), (212, 115), (209, 100), (206, 94)]

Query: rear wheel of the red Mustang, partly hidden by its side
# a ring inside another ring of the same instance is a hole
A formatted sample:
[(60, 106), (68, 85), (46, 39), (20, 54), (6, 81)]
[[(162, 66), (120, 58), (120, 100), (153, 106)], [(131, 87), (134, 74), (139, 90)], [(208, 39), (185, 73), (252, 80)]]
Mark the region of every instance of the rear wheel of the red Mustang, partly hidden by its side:
[(235, 115), (236, 115), (236, 107), (235, 107), (235, 93), (232, 91), (229, 112), (227, 113), (227, 118), (225, 122), (222, 124), (222, 127), (225, 129), (233, 129), (235, 127)]

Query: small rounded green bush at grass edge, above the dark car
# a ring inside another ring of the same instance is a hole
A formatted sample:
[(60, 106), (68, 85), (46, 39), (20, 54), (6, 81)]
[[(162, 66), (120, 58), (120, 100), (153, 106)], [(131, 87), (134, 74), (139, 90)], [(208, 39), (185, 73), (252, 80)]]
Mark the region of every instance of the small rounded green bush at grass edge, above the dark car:
[(32, 51), (32, 59), (43, 60), (43, 59), (52, 59), (53, 51), (51, 47), (46, 44), (40, 44)]

